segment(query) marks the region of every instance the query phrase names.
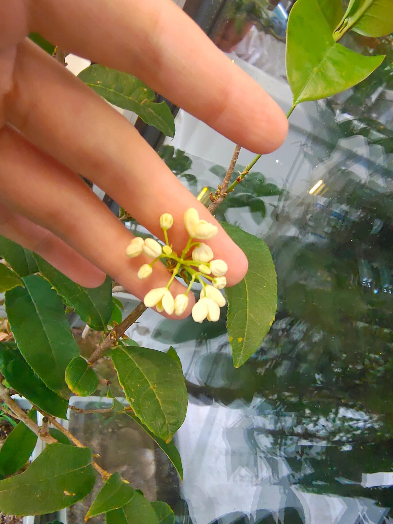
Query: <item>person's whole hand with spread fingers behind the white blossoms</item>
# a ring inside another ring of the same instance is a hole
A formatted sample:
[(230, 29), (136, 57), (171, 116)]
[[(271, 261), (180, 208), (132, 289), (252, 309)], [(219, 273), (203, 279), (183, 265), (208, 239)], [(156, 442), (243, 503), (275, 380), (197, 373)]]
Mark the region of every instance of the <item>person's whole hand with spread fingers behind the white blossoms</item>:
[[(107, 273), (143, 298), (166, 285), (167, 269), (156, 264), (149, 279), (138, 280), (144, 260), (125, 255), (133, 235), (79, 174), (160, 238), (159, 216), (171, 213), (175, 250), (187, 241), (188, 208), (218, 224), (122, 115), (26, 38), (32, 31), (68, 52), (135, 74), (256, 153), (281, 145), (287, 119), (171, 0), (0, 4), (0, 234), (83, 286), (100, 285)], [(227, 282), (234, 285), (247, 259), (218, 227), (208, 243), (215, 258), (227, 261)], [(182, 289), (173, 282), (173, 294)], [(191, 307), (190, 300), (185, 314)]]

